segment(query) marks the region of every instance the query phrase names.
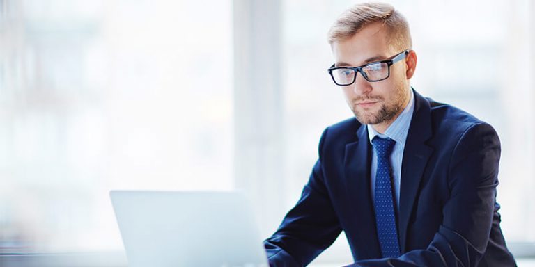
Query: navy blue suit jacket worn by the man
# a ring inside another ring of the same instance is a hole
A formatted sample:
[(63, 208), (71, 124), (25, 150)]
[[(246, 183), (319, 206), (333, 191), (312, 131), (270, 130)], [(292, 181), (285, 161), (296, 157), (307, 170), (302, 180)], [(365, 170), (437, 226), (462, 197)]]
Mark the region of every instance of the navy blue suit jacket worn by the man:
[(270, 266), (305, 266), (346, 233), (352, 266), (515, 266), (499, 227), (500, 144), (489, 124), (414, 91), (397, 218), (401, 257), (381, 259), (371, 145), (355, 118), (323, 132), (319, 159), (277, 232)]

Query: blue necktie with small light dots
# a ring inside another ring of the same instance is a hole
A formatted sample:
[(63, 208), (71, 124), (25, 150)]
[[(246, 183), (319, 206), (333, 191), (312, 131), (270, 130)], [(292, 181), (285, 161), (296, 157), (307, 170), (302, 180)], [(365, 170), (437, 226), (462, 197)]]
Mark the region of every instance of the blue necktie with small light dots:
[(382, 257), (396, 258), (400, 252), (390, 175), (390, 154), (396, 141), (375, 136), (371, 142), (377, 154), (374, 204), (379, 244)]

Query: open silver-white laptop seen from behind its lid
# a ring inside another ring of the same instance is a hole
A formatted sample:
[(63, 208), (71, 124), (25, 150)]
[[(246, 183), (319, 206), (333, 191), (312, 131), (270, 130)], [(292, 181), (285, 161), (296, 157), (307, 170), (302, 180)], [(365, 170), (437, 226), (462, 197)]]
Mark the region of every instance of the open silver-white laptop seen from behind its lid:
[(111, 191), (128, 266), (267, 267), (239, 192)]

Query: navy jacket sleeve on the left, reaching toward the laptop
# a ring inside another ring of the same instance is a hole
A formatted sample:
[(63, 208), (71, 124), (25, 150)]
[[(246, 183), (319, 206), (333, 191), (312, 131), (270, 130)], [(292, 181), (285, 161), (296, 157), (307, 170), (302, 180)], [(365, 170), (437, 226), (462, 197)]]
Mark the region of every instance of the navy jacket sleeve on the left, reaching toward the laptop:
[(320, 159), (316, 161), (300, 200), (286, 214), (279, 229), (264, 241), (270, 266), (306, 266), (329, 247), (341, 232), (323, 178), (320, 140)]

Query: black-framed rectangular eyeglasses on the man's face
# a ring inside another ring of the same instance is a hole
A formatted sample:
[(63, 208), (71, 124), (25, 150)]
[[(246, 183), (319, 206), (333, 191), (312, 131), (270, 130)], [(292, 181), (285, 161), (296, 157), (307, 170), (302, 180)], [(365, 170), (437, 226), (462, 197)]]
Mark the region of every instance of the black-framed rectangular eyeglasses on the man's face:
[(339, 86), (355, 83), (357, 72), (360, 72), (366, 81), (382, 81), (390, 76), (390, 66), (405, 58), (407, 54), (409, 50), (396, 54), (389, 60), (375, 61), (360, 67), (334, 67), (333, 64), (327, 71), (331, 74), (332, 81)]

